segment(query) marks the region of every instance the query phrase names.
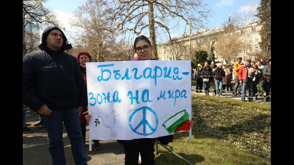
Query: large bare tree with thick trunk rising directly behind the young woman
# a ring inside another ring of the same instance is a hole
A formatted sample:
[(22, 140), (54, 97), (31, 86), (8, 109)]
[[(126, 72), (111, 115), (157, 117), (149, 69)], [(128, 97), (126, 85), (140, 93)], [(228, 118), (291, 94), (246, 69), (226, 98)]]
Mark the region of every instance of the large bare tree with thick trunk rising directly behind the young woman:
[[(152, 58), (158, 58), (156, 34), (165, 31), (169, 39), (170, 29), (180, 25), (202, 28), (210, 15), (208, 4), (202, 0), (109, 0), (116, 6), (111, 19), (118, 22), (115, 31), (132, 31), (134, 35), (145, 33), (149, 28), (151, 44), (154, 47)], [(146, 18), (148, 17), (148, 20)], [(184, 23), (182, 23), (184, 22)]]

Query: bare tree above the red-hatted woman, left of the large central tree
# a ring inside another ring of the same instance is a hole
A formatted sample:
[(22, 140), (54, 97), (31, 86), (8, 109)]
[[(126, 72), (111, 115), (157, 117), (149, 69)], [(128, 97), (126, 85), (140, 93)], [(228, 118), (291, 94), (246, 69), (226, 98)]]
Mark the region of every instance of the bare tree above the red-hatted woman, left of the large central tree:
[(98, 62), (110, 60), (109, 52), (118, 37), (119, 31), (110, 32), (116, 26), (108, 19), (111, 7), (105, 0), (88, 0), (73, 12), (69, 20), (69, 24), (77, 30), (74, 40), (95, 55)]

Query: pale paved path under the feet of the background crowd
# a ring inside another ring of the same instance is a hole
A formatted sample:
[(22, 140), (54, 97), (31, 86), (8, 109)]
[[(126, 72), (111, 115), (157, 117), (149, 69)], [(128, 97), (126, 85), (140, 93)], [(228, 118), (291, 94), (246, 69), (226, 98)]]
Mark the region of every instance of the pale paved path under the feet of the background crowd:
[[(204, 91), (202, 91), (202, 93), (196, 93), (196, 85), (195, 86), (192, 85), (191, 88), (192, 88), (192, 90), (191, 90), (192, 93), (205, 95)], [(202, 89), (202, 90), (204, 90), (204, 89)], [(227, 89), (223, 89), (223, 90), (225, 90), (225, 92), (223, 91), (223, 98), (226, 97), (227, 99), (241, 100), (241, 96), (233, 96), (233, 91), (227, 91)], [(214, 94), (212, 94), (212, 93), (213, 93), (213, 90), (210, 89), (209, 93), (208, 93), (209, 96), (215, 97)], [(225, 96), (225, 94), (227, 94), (227, 96)], [(248, 92), (247, 92), (247, 94), (248, 94)], [(265, 92), (263, 92), (263, 94), (265, 97)], [(245, 98), (246, 98), (245, 101), (248, 102), (248, 98), (247, 97), (245, 97)], [(253, 101), (254, 101), (254, 98), (253, 98)], [(257, 96), (256, 102), (264, 104), (264, 98), (262, 96)], [(265, 102), (265, 104), (271, 104), (271, 96), (269, 96), (269, 101)]]

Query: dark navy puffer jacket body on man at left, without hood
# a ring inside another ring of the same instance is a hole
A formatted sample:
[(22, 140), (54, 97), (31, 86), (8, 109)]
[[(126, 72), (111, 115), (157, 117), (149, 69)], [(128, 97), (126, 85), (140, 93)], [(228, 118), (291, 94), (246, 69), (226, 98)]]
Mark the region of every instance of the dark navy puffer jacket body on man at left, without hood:
[(34, 111), (45, 103), (56, 110), (87, 106), (87, 87), (76, 57), (39, 47), (22, 60), (23, 103)]

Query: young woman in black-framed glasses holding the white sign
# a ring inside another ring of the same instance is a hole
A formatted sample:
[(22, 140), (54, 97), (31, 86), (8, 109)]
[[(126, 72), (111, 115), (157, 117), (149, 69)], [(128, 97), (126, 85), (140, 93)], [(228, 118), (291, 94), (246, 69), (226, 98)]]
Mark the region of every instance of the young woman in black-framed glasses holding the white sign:
[[(133, 60), (157, 60), (151, 58), (151, 53), (153, 51), (153, 46), (151, 45), (149, 39), (143, 35), (136, 37), (134, 42), (134, 52), (138, 57), (134, 57)], [(85, 112), (84, 114), (88, 114)], [(85, 116), (87, 122), (91, 119), (92, 114)], [(196, 117), (192, 116), (192, 119)], [(193, 127), (194, 122), (189, 120), (191, 127)], [(138, 165), (139, 162), (139, 153), (141, 155), (142, 165), (154, 165), (154, 144), (156, 138), (142, 138), (142, 139), (133, 139), (133, 140), (117, 140), (119, 143), (124, 145), (125, 150), (125, 165)], [(158, 137), (159, 141), (168, 144), (173, 140), (172, 135)]]

